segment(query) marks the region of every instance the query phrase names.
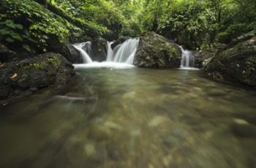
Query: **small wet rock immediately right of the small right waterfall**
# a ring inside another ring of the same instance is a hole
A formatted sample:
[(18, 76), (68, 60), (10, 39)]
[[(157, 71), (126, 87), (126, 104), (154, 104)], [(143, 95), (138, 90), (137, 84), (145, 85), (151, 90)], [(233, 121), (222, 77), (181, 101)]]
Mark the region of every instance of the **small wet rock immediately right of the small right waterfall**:
[(193, 55), (195, 57), (195, 68), (205, 67), (211, 58), (214, 57), (214, 53), (206, 51), (195, 51)]

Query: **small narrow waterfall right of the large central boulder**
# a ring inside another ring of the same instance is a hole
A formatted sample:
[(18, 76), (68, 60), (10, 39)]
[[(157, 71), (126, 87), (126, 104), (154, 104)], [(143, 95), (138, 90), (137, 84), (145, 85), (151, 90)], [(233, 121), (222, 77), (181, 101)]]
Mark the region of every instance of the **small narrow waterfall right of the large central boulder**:
[(181, 48), (182, 56), (181, 56), (181, 69), (182, 68), (194, 68), (194, 55), (191, 51)]

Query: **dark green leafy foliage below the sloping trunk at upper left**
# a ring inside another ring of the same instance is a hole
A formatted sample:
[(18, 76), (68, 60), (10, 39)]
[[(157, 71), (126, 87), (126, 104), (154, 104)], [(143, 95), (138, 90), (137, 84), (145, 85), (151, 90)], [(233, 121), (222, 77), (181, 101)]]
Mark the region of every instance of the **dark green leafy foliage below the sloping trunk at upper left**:
[(46, 51), (51, 36), (63, 43), (75, 28), (35, 1), (4, 0), (0, 5), (1, 39), (27, 52)]

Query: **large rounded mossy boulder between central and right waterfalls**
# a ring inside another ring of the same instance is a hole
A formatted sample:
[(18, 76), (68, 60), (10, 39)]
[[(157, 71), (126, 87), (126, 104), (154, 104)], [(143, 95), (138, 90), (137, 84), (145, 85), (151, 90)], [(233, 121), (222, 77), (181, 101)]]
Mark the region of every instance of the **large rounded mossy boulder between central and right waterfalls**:
[(181, 49), (154, 32), (140, 38), (134, 65), (140, 68), (179, 68)]

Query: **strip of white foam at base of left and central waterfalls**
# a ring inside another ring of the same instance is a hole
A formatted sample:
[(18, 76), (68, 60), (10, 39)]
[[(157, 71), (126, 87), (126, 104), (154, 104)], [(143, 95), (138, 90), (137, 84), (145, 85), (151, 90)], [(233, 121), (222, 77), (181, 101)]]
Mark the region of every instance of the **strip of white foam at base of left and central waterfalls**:
[(92, 62), (86, 64), (73, 64), (76, 69), (81, 68), (114, 68), (114, 69), (129, 69), (136, 68), (135, 65), (130, 65), (127, 63), (114, 63), (114, 62)]

